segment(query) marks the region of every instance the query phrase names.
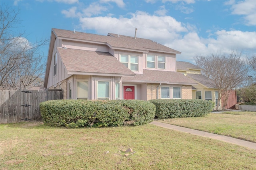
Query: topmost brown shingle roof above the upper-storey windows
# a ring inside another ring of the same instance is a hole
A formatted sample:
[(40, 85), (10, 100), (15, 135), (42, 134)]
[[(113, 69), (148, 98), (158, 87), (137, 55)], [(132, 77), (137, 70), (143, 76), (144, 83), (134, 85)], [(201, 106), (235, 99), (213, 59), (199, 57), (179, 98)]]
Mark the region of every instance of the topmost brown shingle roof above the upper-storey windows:
[(131, 49), (133, 51), (135, 50), (162, 51), (165, 53), (180, 54), (179, 51), (176, 51), (174, 49), (171, 49), (169, 47), (156, 43), (150, 39), (143, 39), (143, 38), (134, 39), (134, 37), (124, 36), (124, 35), (118, 36), (118, 34), (113, 34), (113, 33), (109, 33), (108, 35), (110, 36), (96, 35), (96, 34), (82, 33), (82, 32), (74, 33), (74, 31), (56, 29), (56, 28), (53, 28), (52, 31), (59, 38), (62, 37), (62, 38), (70, 38), (70, 39), (79, 39), (83, 41), (94, 41), (95, 43), (96, 42), (105, 43), (106, 45), (109, 45), (112, 49), (125, 48), (125, 49)]

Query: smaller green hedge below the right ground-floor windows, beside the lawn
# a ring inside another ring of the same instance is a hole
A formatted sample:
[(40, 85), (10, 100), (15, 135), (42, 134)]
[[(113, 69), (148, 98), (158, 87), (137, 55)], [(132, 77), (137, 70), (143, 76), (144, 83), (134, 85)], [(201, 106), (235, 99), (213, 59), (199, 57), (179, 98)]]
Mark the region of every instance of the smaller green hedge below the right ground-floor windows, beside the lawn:
[(214, 108), (214, 102), (207, 100), (156, 99), (150, 102), (156, 106), (159, 119), (204, 116)]

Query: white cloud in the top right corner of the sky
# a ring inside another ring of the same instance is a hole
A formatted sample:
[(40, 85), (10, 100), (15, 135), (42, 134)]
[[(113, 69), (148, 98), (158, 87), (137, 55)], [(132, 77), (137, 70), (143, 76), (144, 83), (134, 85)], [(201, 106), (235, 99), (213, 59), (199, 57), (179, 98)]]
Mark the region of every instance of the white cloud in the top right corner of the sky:
[[(233, 1), (232, 1), (233, 2)], [(232, 14), (244, 16), (246, 25), (256, 25), (256, 2), (255, 0), (238, 1), (230, 3)]]

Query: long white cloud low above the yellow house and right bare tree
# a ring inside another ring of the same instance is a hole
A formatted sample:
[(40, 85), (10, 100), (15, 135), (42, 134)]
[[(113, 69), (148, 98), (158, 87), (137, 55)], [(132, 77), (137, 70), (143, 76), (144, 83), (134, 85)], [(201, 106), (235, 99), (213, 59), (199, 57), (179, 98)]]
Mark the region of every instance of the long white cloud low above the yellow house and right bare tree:
[(177, 55), (179, 61), (193, 62), (195, 55), (210, 55), (215, 53), (230, 53), (231, 51), (242, 51), (245, 56), (256, 54), (256, 32), (242, 31), (216, 31), (214, 33), (216, 39), (204, 39), (199, 37), (197, 33), (190, 32), (181, 39), (174, 39), (170, 43), (164, 45), (181, 51), (181, 55)]

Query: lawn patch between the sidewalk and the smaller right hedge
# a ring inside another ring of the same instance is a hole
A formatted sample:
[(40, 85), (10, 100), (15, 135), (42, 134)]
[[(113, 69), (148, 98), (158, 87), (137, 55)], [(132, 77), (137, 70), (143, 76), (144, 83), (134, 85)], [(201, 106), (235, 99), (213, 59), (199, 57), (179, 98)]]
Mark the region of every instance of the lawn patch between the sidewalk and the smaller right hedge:
[(185, 117), (160, 121), (256, 143), (256, 112), (252, 111), (227, 111), (210, 113), (204, 117)]

